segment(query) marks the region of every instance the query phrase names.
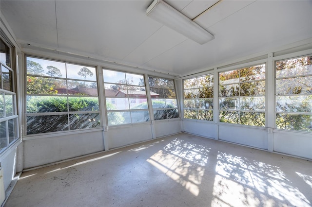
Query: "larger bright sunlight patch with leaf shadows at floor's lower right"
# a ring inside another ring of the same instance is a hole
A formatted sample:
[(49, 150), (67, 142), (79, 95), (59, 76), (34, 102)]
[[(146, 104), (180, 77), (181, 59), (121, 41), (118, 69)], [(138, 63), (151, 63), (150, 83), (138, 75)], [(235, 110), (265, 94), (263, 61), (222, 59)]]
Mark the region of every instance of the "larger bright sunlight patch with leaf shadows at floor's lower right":
[[(233, 201), (235, 206), (275, 206), (276, 200), (285, 206), (311, 205), (277, 166), (219, 152), (215, 171), (212, 206), (233, 206)], [(301, 177), (309, 180), (310, 176)]]

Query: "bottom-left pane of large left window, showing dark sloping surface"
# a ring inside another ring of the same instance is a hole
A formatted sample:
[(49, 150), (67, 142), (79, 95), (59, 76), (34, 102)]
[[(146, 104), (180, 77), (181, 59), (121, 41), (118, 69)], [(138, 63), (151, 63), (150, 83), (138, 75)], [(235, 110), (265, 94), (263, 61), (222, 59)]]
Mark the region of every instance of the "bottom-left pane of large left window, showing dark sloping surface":
[(27, 117), (27, 135), (68, 130), (67, 115)]

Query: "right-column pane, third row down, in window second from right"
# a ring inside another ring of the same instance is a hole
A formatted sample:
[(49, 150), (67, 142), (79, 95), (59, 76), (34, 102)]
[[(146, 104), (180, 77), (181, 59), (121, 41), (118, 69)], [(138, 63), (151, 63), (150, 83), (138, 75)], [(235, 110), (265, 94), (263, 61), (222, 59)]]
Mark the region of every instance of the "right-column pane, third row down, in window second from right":
[(265, 97), (242, 97), (240, 98), (240, 109), (250, 111), (264, 111)]

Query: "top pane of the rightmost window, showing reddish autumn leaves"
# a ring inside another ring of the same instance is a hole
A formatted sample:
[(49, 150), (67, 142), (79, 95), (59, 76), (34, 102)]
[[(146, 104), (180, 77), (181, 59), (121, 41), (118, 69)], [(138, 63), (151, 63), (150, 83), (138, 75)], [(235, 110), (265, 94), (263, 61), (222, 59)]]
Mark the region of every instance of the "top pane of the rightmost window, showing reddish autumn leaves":
[(312, 74), (312, 56), (276, 62), (276, 78)]

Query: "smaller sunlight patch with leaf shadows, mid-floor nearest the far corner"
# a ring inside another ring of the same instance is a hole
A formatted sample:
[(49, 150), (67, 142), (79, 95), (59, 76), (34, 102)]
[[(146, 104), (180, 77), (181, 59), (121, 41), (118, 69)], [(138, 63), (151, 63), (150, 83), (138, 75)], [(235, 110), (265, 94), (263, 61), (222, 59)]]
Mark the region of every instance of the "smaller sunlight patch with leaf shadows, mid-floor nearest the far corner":
[(175, 139), (147, 161), (197, 196), (208, 152), (207, 147)]

